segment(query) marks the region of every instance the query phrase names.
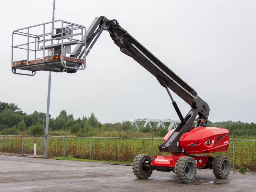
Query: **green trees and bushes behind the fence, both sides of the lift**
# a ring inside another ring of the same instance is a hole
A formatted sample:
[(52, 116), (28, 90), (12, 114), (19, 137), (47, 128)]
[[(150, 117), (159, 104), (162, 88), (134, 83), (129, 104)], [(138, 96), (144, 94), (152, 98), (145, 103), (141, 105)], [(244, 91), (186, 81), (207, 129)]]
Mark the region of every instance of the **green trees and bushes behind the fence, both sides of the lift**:
[[(44, 135), (46, 114), (34, 111), (27, 114), (14, 103), (6, 103), (0, 101), (0, 135)], [(167, 132), (166, 128), (157, 129), (156, 124), (152, 124), (153, 129), (139, 125), (139, 133), (152, 133), (156, 136), (163, 137)], [(223, 121), (208, 121), (209, 127), (223, 127), (230, 131), (232, 136), (256, 136), (256, 124)], [(123, 134), (124, 132), (128, 134)], [(49, 118), (49, 135), (76, 135), (90, 136), (95, 133), (104, 133), (103, 136), (129, 136), (130, 134), (138, 134), (130, 121), (122, 123), (101, 124), (94, 113), (90, 116), (83, 116), (75, 119), (73, 114), (67, 114), (65, 110), (60, 111), (59, 116)]]

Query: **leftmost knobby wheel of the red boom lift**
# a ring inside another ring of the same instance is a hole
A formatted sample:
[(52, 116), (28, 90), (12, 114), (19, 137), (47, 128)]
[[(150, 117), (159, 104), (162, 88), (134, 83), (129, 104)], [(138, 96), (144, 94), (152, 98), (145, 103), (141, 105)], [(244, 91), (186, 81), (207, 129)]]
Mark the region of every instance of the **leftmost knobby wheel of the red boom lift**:
[(137, 155), (132, 162), (132, 172), (139, 179), (148, 179), (152, 174), (150, 170), (151, 158), (146, 154)]

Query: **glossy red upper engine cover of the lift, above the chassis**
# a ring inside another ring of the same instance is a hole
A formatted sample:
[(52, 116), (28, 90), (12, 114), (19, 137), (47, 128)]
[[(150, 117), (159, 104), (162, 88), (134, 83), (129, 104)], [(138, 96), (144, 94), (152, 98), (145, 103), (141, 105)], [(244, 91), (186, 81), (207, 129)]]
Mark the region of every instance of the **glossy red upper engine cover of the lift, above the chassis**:
[[(171, 130), (165, 135), (164, 142), (173, 131)], [(229, 131), (220, 127), (191, 127), (189, 132), (184, 133), (180, 137), (179, 145), (187, 154), (227, 151)]]

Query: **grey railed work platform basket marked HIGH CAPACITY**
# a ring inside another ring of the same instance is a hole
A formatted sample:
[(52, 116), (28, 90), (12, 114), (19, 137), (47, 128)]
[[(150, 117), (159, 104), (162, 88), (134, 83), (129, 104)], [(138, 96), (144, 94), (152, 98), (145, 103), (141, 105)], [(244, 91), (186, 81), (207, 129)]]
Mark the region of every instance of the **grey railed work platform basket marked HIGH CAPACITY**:
[(12, 72), (34, 76), (41, 70), (68, 73), (84, 70), (85, 37), (84, 26), (63, 20), (14, 30)]

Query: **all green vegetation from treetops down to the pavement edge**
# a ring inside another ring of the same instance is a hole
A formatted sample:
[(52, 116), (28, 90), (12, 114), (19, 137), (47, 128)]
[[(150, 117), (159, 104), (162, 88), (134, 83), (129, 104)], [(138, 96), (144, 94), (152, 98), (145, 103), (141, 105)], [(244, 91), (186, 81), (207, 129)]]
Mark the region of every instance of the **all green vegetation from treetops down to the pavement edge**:
[[(33, 143), (37, 140), (37, 152), (42, 153), (44, 125), (46, 114), (34, 111), (32, 114), (23, 112), (14, 103), (0, 101), (0, 135), (34, 135), (38, 137), (0, 136), (0, 152), (21, 152), (23, 141), (23, 153), (33, 154)], [(90, 116), (75, 119), (72, 114), (62, 110), (57, 117), (49, 119), (49, 135), (62, 137), (49, 137), (48, 155), (50, 157), (64, 156), (63, 136), (77, 136), (83, 138), (66, 137), (66, 158), (89, 159), (90, 147), (91, 159), (99, 161), (118, 161), (118, 144), (120, 143), (120, 162), (132, 162), (137, 154), (168, 155), (160, 153), (158, 145), (168, 132), (166, 128), (157, 129), (157, 123), (152, 123), (153, 129), (144, 127), (143, 122), (137, 123), (140, 130), (131, 126), (130, 121), (115, 124), (101, 124), (97, 117)], [(242, 123), (240, 121), (208, 122), (207, 126), (223, 127), (230, 131), (230, 139), (256, 138), (256, 124)], [(92, 137), (92, 138), (91, 138)], [(95, 138), (99, 137), (99, 138)], [(107, 138), (102, 137), (116, 137)], [(118, 139), (120, 138), (120, 139)], [(150, 138), (150, 139), (129, 139)], [(154, 138), (152, 140), (152, 138)], [(159, 139), (157, 139), (159, 138)], [(90, 142), (91, 141), (91, 142)], [(153, 144), (153, 145), (152, 145)], [(214, 153), (213, 156), (226, 154), (233, 164), (233, 142), (230, 142), (227, 152)], [(235, 168), (242, 166), (250, 170), (256, 170), (256, 142), (235, 141)]]

